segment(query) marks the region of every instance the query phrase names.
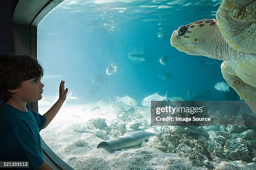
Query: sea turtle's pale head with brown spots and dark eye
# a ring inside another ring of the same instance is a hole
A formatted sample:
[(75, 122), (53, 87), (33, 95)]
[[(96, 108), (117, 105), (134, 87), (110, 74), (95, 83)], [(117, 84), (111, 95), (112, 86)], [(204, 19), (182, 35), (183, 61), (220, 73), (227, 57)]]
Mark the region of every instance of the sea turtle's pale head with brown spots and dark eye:
[(200, 46), (212, 35), (216, 25), (215, 19), (204, 19), (182, 25), (172, 33), (171, 45), (189, 55), (200, 55)]

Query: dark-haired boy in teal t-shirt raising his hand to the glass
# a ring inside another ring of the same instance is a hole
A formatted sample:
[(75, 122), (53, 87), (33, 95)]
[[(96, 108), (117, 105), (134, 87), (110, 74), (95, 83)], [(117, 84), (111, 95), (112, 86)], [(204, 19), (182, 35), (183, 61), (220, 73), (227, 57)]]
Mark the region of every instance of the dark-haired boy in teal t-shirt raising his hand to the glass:
[[(0, 161), (29, 161), (30, 170), (53, 169), (44, 161), (39, 131), (46, 128), (66, 100), (61, 80), (59, 100), (44, 115), (27, 102), (41, 100), (44, 70), (30, 56), (0, 56)], [(14, 168), (19, 169), (19, 168)]]

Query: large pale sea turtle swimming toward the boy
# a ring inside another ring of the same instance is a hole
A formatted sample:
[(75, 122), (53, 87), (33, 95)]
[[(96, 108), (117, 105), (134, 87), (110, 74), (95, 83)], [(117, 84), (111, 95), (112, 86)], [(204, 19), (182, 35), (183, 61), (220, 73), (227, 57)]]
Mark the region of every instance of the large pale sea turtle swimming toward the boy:
[(256, 0), (223, 0), (215, 19), (182, 25), (171, 45), (218, 60), (224, 79), (256, 113)]

